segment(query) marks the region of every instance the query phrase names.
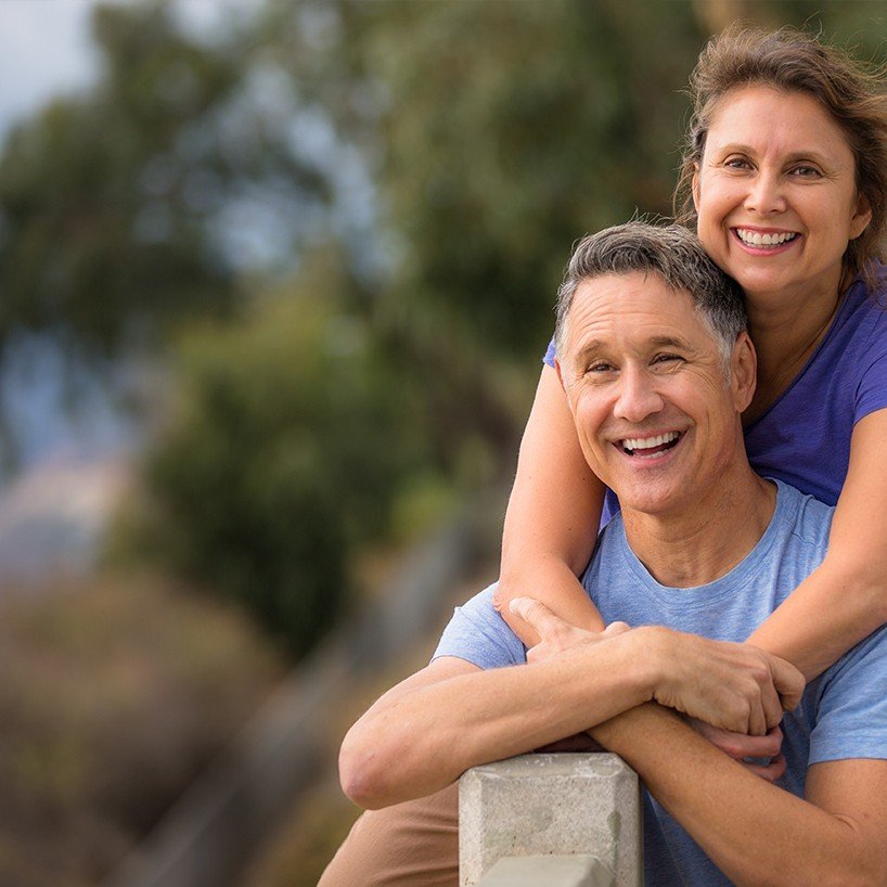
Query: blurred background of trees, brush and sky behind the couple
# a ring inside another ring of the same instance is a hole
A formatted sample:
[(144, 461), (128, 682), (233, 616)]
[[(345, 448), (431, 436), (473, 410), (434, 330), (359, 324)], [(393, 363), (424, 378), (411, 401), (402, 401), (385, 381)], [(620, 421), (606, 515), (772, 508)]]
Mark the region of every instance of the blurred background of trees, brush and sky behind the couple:
[(0, 884), (313, 885), (496, 576), (570, 244), (706, 37), (887, 4), (0, 2)]

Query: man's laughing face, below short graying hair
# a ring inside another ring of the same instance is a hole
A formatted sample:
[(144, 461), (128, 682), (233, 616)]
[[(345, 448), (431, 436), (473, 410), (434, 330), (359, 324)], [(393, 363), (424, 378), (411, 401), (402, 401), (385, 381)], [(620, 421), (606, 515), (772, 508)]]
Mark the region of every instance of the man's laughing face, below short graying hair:
[(579, 441), (624, 511), (681, 510), (745, 460), (745, 334), (729, 374), (690, 296), (640, 272), (581, 283), (567, 334), (558, 372)]

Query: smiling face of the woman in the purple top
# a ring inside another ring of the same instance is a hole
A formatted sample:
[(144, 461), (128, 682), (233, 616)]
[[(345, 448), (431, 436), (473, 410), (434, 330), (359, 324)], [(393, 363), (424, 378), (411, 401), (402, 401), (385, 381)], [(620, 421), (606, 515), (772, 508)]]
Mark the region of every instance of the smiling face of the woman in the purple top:
[(854, 173), (812, 95), (755, 85), (721, 100), (693, 179), (698, 233), (753, 311), (837, 297), (841, 256), (871, 218)]

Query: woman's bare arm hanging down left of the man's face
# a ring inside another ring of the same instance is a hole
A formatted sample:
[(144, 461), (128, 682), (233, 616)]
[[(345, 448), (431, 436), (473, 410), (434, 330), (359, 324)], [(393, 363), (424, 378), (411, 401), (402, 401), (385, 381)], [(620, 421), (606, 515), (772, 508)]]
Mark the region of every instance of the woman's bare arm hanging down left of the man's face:
[(576, 626), (604, 625), (577, 580), (594, 548), (604, 486), (586, 462), (557, 373), (545, 365), (530, 411), (502, 537), (497, 609), (524, 643), (535, 631), (509, 609), (535, 597)]

